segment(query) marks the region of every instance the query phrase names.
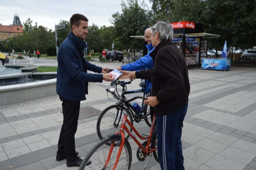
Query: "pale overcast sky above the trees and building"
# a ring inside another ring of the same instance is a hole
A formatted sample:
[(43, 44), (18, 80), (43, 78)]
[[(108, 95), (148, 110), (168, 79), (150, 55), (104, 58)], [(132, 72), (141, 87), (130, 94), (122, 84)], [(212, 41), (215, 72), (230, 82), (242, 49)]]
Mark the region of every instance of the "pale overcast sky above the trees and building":
[[(151, 9), (149, 0), (145, 2)], [(122, 10), (120, 4), (121, 0), (1, 0), (0, 24), (12, 24), (17, 14), (22, 24), (30, 18), (33, 26), (37, 22), (54, 30), (61, 19), (69, 21), (72, 14), (79, 13), (89, 19), (89, 25), (110, 26), (111, 15)]]

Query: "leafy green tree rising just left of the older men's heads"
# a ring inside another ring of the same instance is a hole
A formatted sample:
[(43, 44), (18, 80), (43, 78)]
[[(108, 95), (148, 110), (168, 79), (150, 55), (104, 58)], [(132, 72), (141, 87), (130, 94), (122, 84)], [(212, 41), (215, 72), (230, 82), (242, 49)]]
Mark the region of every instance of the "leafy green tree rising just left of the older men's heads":
[(152, 24), (152, 12), (146, 9), (144, 0), (126, 0), (121, 1), (122, 13), (116, 12), (112, 14), (110, 22), (114, 25), (114, 36), (119, 50), (135, 48), (140, 50), (142, 41), (130, 38), (130, 36), (144, 35), (143, 26)]

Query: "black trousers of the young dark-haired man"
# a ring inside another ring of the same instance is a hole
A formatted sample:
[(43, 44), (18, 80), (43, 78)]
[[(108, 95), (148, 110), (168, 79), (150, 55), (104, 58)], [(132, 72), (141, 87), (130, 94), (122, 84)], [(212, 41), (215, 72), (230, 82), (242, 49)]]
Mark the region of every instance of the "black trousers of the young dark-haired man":
[(76, 160), (75, 134), (78, 125), (80, 101), (60, 97), (62, 101), (63, 125), (60, 130), (57, 154), (66, 154), (67, 160)]

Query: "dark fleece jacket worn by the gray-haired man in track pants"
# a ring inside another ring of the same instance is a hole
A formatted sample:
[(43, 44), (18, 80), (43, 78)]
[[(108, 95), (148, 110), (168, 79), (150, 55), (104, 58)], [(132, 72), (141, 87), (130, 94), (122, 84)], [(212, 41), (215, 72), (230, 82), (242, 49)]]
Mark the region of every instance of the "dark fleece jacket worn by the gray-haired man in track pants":
[(154, 67), (136, 71), (136, 78), (152, 81), (152, 96), (156, 96), (160, 102), (153, 107), (154, 115), (168, 115), (185, 107), (190, 83), (185, 57), (180, 49), (172, 41), (163, 40), (150, 56), (154, 60)]

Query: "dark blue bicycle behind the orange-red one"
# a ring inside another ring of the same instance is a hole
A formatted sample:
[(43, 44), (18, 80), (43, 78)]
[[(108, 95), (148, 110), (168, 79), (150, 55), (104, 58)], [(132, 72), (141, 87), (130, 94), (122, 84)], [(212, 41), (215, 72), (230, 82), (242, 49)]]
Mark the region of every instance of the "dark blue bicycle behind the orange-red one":
[[(132, 81), (128, 81), (128, 82), (114, 81), (111, 83), (110, 86), (112, 86), (112, 88), (114, 88), (116, 92), (117, 92), (118, 85), (122, 87), (122, 94), (119, 95), (117, 93), (122, 99), (126, 99), (124, 95), (132, 94), (132, 93), (143, 93), (143, 97), (150, 96), (150, 94), (145, 93), (145, 83), (143, 83), (143, 81), (140, 83), (140, 87), (142, 87), (142, 89), (126, 91), (126, 85), (130, 84), (131, 82)], [(108, 89), (107, 89), (107, 92), (108, 92)], [(115, 97), (114, 95), (112, 96), (118, 100), (117, 97)], [(120, 126), (123, 120), (123, 115), (128, 106), (130, 106), (130, 109), (128, 111), (127, 119), (132, 123), (132, 125), (133, 125), (133, 121), (138, 123), (142, 120), (145, 120), (146, 124), (149, 127), (151, 127), (151, 118), (150, 118), (150, 109), (149, 109), (150, 106), (144, 104), (143, 101), (141, 105), (142, 109), (140, 111), (135, 109), (135, 107), (130, 102), (124, 102), (123, 113), (121, 113), (122, 106), (119, 100), (116, 103), (116, 105), (111, 105), (106, 109), (104, 109), (104, 111), (100, 113), (100, 116), (98, 118), (97, 125), (96, 125), (97, 133), (100, 140), (102, 140), (104, 137), (108, 136), (109, 134), (115, 134), (118, 130), (120, 130)], [(128, 128), (130, 129), (130, 131), (132, 131), (130, 127)], [(127, 133), (125, 134), (125, 136), (126, 138), (129, 137)]]

